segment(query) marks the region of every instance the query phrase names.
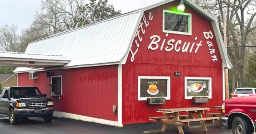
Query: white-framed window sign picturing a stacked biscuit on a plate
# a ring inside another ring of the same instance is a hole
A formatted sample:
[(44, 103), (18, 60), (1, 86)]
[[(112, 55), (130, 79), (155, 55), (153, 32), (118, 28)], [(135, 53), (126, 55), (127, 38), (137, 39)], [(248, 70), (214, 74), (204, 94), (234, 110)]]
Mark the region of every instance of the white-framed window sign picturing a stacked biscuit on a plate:
[(138, 100), (148, 97), (170, 99), (170, 77), (139, 76)]

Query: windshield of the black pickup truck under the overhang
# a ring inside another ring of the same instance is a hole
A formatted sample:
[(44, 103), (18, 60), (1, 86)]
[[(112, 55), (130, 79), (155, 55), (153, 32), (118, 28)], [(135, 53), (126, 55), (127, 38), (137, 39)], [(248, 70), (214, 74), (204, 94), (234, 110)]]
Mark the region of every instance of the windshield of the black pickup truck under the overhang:
[(12, 87), (10, 97), (36, 97), (42, 96), (37, 87)]

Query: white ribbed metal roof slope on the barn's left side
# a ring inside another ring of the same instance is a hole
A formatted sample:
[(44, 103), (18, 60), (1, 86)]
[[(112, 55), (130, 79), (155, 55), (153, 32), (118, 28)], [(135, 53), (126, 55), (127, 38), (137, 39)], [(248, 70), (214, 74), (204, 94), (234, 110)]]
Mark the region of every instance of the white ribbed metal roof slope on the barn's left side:
[(29, 43), (25, 53), (63, 55), (71, 59), (66, 66), (121, 62), (128, 53), (141, 14), (137, 10), (61, 32)]

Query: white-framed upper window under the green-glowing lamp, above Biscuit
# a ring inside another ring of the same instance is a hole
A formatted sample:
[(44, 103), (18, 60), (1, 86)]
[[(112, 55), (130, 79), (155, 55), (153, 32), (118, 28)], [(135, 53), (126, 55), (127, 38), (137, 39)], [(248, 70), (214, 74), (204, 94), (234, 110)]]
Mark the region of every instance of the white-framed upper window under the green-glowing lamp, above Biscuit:
[(163, 32), (191, 35), (191, 14), (163, 10)]

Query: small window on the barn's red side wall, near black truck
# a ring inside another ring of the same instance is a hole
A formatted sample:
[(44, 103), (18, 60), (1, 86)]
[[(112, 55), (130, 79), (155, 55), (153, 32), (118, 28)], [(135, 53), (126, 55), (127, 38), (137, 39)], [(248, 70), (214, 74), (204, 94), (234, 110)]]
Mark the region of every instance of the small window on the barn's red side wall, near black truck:
[(61, 95), (62, 89), (62, 79), (61, 76), (52, 77), (52, 95)]

